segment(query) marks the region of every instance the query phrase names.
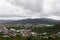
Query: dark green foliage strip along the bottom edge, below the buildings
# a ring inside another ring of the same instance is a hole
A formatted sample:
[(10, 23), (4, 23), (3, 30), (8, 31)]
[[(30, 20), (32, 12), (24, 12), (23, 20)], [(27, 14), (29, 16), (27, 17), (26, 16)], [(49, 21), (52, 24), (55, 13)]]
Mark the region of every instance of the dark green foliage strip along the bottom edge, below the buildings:
[(33, 36), (22, 37), (20, 35), (16, 35), (16, 36), (10, 36), (10, 37), (0, 37), (0, 40), (60, 40), (60, 38), (59, 37), (56, 37), (56, 38), (41, 38), (39, 36), (37, 36), (37, 37), (33, 37)]

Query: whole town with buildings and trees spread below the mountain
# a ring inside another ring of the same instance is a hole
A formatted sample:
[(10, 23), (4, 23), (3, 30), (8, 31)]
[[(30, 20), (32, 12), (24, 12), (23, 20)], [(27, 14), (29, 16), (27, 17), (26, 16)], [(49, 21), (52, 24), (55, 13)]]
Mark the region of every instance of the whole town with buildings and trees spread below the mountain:
[[(51, 28), (54, 25), (47, 25), (47, 24), (39, 24), (39, 25), (32, 25), (32, 24), (1, 24), (0, 25), (0, 40), (3, 40), (2, 38), (8, 38), (8, 37), (16, 37), (16, 35), (19, 35), (21, 37), (27, 38), (27, 37), (35, 37), (35, 38), (46, 38), (47, 40), (50, 38), (60, 38), (60, 31), (57, 31), (54, 33), (54, 31), (48, 33), (48, 31), (45, 31), (44, 28)], [(42, 30), (40, 30), (40, 29)], [(36, 30), (37, 29), (37, 30)], [(39, 31), (39, 30), (40, 31)], [(52, 29), (52, 28), (51, 28)], [(44, 30), (44, 31), (43, 31)], [(8, 39), (6, 39), (8, 40)], [(12, 40), (12, 39), (11, 39)], [(14, 40), (14, 39), (13, 39)], [(16, 40), (16, 39), (15, 39)], [(22, 39), (21, 39), (22, 40)], [(26, 39), (27, 40), (27, 39)], [(35, 39), (34, 39), (35, 40)], [(56, 39), (57, 40), (57, 39)]]

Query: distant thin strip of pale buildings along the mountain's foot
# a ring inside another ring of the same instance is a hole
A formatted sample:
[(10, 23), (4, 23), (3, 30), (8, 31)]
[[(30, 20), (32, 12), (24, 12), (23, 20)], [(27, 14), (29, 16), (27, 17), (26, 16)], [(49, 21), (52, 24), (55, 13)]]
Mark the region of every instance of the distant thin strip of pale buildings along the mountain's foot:
[(25, 26), (25, 27), (44, 27), (44, 26), (53, 26), (53, 25), (48, 25), (48, 24), (0, 24), (1, 27), (18, 27), (18, 26)]

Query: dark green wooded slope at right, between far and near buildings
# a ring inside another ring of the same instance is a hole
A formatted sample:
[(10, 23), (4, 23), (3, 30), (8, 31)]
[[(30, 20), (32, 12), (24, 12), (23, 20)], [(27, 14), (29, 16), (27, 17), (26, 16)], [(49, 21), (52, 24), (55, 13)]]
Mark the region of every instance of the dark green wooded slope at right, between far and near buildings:
[(34, 29), (32, 29), (32, 31), (38, 32), (38, 33), (43, 33), (43, 32), (47, 32), (47, 33), (57, 33), (60, 32), (60, 25), (54, 25), (54, 26), (50, 26), (50, 27), (34, 27)]

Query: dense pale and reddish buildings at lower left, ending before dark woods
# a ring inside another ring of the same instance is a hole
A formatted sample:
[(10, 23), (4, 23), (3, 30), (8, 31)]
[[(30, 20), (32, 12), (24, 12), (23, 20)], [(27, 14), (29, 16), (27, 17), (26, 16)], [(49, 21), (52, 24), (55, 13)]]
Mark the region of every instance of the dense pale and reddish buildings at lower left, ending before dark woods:
[(31, 29), (21, 29), (21, 30), (15, 30), (15, 29), (7, 29), (6, 27), (0, 27), (0, 35), (5, 36), (16, 36), (21, 35), (22, 37), (26, 36), (37, 36), (37, 33), (32, 32)]

